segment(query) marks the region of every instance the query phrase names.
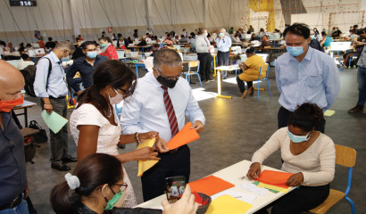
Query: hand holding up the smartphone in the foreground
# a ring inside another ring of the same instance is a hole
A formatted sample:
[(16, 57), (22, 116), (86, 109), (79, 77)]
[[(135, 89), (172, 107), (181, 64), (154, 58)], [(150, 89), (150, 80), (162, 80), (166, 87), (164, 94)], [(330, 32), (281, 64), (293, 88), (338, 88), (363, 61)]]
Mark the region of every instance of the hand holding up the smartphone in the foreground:
[(195, 202), (195, 195), (191, 193), (191, 188), (186, 185), (186, 189), (178, 202), (169, 203), (168, 200), (162, 201), (163, 214), (195, 214), (198, 203)]

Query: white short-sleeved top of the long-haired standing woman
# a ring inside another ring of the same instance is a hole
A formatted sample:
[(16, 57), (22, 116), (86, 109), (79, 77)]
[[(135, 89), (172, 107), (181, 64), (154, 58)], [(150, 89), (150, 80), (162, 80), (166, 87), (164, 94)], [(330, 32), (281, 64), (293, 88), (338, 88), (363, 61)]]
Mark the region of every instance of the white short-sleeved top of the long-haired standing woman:
[(77, 127), (81, 125), (94, 125), (99, 127), (96, 152), (110, 155), (119, 154), (117, 144), (120, 142), (122, 129), (114, 106), (113, 113), (117, 126), (112, 125), (108, 119), (104, 118), (100, 111), (92, 104), (84, 103), (78, 109), (72, 111), (70, 129), (75, 144), (79, 142), (79, 129)]

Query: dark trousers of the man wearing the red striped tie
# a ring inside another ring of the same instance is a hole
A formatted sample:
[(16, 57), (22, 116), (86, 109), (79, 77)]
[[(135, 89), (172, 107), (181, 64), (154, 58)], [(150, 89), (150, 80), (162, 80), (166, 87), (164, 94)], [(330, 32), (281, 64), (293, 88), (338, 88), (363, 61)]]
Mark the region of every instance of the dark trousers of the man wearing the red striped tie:
[(144, 202), (164, 193), (166, 177), (186, 177), (189, 181), (190, 174), (190, 150), (183, 145), (177, 152), (160, 153), (161, 160), (148, 169), (141, 177)]

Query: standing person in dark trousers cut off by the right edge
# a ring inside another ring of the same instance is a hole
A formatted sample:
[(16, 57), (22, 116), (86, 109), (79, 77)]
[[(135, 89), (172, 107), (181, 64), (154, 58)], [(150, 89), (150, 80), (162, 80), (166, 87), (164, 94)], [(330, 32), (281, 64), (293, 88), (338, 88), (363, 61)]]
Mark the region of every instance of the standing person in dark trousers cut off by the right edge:
[(356, 62), (358, 66), (357, 70), (357, 83), (358, 83), (358, 101), (354, 108), (348, 110), (350, 113), (359, 113), (363, 111), (366, 102), (366, 29), (362, 30), (359, 34), (363, 41), (355, 41), (358, 46), (362, 46), (361, 53), (359, 54)]

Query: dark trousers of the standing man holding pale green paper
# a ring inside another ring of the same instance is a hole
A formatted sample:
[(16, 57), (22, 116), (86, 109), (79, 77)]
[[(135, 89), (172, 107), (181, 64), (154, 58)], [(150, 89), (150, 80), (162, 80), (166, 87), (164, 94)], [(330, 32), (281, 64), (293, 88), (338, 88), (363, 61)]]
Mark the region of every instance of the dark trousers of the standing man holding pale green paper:
[[(67, 104), (66, 98), (62, 99), (50, 99), (54, 112), (60, 114), (63, 118), (67, 118)], [(43, 110), (44, 103), (41, 99), (41, 106)], [(69, 156), (69, 137), (67, 131), (67, 125), (65, 125), (58, 133), (50, 129), (50, 145), (51, 145), (51, 161), (61, 162), (62, 158)]]

